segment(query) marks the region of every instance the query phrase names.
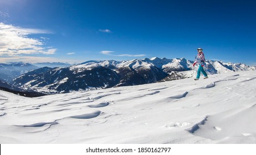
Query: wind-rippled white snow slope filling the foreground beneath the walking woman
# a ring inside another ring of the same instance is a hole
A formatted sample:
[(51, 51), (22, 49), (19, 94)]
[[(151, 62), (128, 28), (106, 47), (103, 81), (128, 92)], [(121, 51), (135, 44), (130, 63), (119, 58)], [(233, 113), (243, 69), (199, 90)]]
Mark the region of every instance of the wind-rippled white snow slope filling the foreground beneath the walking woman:
[(256, 143), (256, 71), (33, 99), (0, 91), (0, 143)]

